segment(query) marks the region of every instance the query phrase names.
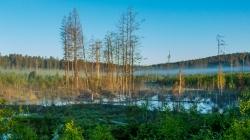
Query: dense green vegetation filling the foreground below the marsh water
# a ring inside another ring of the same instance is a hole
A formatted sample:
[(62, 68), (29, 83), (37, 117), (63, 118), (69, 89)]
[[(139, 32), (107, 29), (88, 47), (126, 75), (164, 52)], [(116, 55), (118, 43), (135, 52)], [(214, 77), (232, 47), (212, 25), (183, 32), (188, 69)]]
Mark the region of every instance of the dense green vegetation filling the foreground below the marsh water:
[[(178, 112), (148, 110), (147, 103), (143, 107), (93, 104), (29, 106), (30, 116), (16, 115), (5, 108), (0, 109), (0, 126), (3, 126), (0, 127), (0, 137), (8, 133), (13, 139), (52, 139), (53, 136), (62, 140), (250, 139), (249, 90), (242, 91), (240, 99), (239, 108), (222, 114), (200, 114), (195, 104), (188, 111)], [(19, 106), (14, 108), (16, 112), (23, 112)], [(62, 125), (65, 120), (72, 119), (74, 121)]]

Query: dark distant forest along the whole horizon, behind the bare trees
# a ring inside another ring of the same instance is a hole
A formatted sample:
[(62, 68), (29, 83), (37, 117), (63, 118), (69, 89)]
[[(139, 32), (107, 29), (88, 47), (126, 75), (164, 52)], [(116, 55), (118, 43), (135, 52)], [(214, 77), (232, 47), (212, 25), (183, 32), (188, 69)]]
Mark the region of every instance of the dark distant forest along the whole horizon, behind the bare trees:
[[(81, 61), (80, 61), (81, 62)], [(221, 62), (223, 66), (245, 66), (250, 65), (250, 53), (234, 53), (225, 54), (220, 56), (211, 56), (195, 60), (180, 61), (174, 63), (164, 63), (147, 66), (147, 68), (206, 68), (215, 67)], [(54, 57), (40, 57), (40, 56), (23, 56), (21, 54), (9, 54), (0, 56), (0, 66), (5, 69), (64, 69), (64, 62), (62, 59)], [(93, 64), (88, 63), (89, 67)], [(101, 64), (103, 68), (104, 63)], [(84, 67), (83, 62), (80, 63), (79, 67)]]

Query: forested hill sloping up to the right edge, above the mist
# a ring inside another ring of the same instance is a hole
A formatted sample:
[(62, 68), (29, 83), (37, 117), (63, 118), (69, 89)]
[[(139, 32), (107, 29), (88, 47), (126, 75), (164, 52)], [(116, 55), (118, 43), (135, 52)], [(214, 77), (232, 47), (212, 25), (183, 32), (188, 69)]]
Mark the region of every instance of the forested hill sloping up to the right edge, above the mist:
[(216, 67), (221, 63), (224, 67), (226, 66), (242, 66), (244, 59), (244, 65), (250, 66), (250, 53), (233, 53), (225, 54), (220, 56), (210, 56), (206, 58), (180, 61), (174, 63), (163, 63), (147, 66), (147, 68), (157, 68), (157, 69), (175, 69), (181, 67), (185, 68), (207, 68), (207, 67)]

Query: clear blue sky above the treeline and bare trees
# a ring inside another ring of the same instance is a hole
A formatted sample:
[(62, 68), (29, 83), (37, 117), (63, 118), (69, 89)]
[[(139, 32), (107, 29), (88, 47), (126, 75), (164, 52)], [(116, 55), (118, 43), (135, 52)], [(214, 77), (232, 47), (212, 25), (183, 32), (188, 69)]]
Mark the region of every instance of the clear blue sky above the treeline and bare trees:
[(142, 64), (203, 58), (217, 54), (216, 35), (225, 53), (250, 52), (249, 0), (0, 0), (0, 53), (62, 58), (60, 26), (73, 8), (79, 12), (87, 45), (116, 31), (128, 7), (141, 24)]

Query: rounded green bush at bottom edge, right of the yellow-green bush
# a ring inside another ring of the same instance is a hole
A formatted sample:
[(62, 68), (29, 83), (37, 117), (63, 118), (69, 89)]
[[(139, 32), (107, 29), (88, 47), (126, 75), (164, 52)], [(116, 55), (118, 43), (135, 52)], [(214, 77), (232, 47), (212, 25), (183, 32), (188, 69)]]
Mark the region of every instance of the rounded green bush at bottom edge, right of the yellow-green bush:
[(90, 133), (90, 140), (114, 140), (114, 138), (108, 127), (97, 125)]

